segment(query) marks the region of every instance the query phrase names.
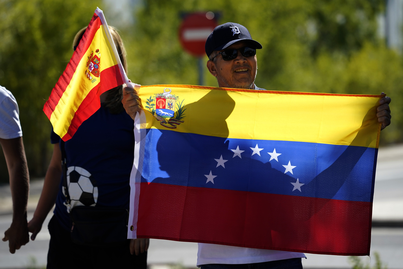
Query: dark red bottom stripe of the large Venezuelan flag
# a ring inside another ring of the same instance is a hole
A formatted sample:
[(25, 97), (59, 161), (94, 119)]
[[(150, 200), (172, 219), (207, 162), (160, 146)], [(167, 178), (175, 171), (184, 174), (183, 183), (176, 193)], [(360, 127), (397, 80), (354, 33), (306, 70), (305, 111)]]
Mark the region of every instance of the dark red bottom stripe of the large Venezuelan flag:
[(371, 212), (370, 202), (141, 183), (137, 237), (368, 255)]

